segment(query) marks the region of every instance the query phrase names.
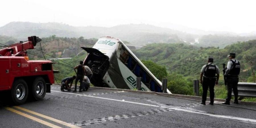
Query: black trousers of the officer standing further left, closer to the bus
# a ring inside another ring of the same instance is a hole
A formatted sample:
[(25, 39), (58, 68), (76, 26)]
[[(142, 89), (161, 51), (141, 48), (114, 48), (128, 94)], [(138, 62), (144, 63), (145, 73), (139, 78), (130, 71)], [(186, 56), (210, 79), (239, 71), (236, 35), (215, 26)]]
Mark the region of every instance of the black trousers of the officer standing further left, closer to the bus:
[(207, 91), (208, 91), (208, 87), (210, 90), (210, 102), (213, 103), (214, 102), (214, 86), (215, 86), (215, 81), (216, 79), (213, 78), (205, 78), (203, 79), (203, 96), (202, 96), (202, 102), (206, 101), (206, 97), (207, 97)]

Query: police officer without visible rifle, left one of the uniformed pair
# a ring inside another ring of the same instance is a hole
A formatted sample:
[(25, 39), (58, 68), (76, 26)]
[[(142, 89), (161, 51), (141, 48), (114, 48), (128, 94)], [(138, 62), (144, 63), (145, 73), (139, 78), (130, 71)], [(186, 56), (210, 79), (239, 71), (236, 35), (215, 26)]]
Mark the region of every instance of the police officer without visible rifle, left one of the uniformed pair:
[[(203, 104), (203, 105), (205, 105), (208, 87), (210, 90), (210, 104), (213, 105), (214, 86), (215, 86), (215, 84), (218, 84), (218, 80), (219, 80), (219, 76), (220, 76), (220, 70), (219, 70), (218, 66), (216, 66), (212, 63), (213, 63), (213, 57), (209, 57), (208, 64), (204, 65), (203, 68), (201, 69), (200, 83), (203, 84), (203, 96), (202, 96), (201, 104)], [(215, 74), (217, 74), (217, 78), (216, 78)]]

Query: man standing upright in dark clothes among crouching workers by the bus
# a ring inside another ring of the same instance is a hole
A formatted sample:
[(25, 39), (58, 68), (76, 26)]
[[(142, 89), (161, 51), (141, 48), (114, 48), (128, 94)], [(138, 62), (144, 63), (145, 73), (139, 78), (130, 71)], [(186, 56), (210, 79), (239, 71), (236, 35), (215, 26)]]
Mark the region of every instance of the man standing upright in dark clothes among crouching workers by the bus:
[(84, 66), (83, 66), (83, 61), (80, 61), (80, 65), (77, 65), (74, 67), (74, 69), (77, 69), (77, 78), (75, 80), (75, 90), (73, 92), (77, 92), (77, 81), (80, 80), (80, 86), (79, 86), (79, 92), (82, 92), (82, 81), (84, 78)]

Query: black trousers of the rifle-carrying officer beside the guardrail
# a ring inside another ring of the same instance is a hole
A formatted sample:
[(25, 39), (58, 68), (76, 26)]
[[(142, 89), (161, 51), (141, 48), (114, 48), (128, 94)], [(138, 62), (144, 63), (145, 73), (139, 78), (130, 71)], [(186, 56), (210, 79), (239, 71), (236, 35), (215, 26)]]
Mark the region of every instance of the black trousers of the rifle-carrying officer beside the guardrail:
[(237, 84), (238, 84), (238, 77), (229, 77), (227, 76), (227, 90), (228, 90), (228, 98), (226, 98), (226, 101), (231, 100), (231, 94), (232, 94), (232, 89), (234, 92), (235, 100), (238, 100), (238, 90), (237, 90)]

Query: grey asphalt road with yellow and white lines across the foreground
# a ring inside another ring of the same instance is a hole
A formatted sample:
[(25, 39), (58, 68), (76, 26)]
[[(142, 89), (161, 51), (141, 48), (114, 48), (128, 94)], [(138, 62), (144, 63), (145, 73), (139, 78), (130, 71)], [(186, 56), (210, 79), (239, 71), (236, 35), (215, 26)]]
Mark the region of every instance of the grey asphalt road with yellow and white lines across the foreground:
[(20, 106), (0, 103), (0, 127), (256, 127), (252, 105), (204, 106), (192, 100), (96, 88), (61, 92), (58, 85), (51, 90), (42, 101)]

